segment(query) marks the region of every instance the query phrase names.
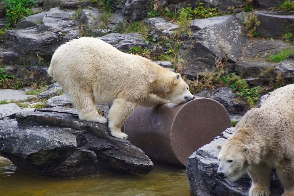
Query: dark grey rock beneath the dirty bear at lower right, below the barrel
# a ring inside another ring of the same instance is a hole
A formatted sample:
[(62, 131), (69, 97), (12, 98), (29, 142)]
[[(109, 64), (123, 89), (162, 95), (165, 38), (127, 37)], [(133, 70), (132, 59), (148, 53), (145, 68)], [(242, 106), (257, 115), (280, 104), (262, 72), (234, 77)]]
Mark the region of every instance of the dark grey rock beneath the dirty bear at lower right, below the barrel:
[[(218, 149), (217, 144), (225, 143), (235, 131), (235, 127), (228, 128), (221, 136), (211, 143), (204, 145), (188, 157), (187, 176), (190, 183), (191, 196), (248, 196), (251, 179), (244, 175), (236, 182), (221, 180), (217, 175)], [(270, 184), (271, 196), (280, 196), (283, 186), (273, 173)]]

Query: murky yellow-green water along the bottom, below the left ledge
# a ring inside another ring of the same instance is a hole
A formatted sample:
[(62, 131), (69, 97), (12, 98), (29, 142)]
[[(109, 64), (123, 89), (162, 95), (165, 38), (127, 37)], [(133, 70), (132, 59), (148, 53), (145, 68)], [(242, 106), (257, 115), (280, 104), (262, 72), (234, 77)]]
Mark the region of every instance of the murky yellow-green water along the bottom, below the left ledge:
[(21, 172), (0, 156), (0, 195), (188, 196), (189, 182), (182, 167), (155, 164), (148, 175), (111, 172), (90, 177), (43, 179)]

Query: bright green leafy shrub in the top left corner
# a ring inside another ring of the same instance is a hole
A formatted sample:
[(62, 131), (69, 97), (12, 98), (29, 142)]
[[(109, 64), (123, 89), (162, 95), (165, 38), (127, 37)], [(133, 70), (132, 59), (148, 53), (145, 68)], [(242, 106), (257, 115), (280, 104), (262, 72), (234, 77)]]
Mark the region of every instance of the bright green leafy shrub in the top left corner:
[(31, 7), (38, 6), (35, 0), (3, 0), (6, 7), (6, 20), (15, 25), (21, 18), (34, 14)]

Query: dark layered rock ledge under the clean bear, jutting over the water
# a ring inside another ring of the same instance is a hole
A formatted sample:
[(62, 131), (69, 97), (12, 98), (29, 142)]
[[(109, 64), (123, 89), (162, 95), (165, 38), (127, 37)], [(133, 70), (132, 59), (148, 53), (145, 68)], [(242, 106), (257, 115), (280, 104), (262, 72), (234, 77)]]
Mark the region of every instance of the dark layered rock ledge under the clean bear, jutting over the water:
[(78, 177), (109, 170), (148, 174), (153, 163), (106, 123), (79, 120), (72, 108), (43, 108), (0, 120), (0, 155), (40, 177)]

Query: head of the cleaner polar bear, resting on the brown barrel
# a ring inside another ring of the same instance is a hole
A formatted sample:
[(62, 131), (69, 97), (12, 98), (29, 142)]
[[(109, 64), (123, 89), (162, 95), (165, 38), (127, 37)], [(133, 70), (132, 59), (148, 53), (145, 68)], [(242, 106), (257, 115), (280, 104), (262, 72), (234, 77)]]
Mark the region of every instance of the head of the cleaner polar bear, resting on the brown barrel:
[(170, 91), (165, 94), (165, 98), (174, 104), (187, 103), (195, 98), (190, 93), (187, 83), (181, 78), (181, 74), (174, 74), (172, 80), (173, 85)]

